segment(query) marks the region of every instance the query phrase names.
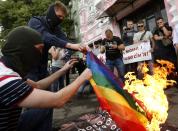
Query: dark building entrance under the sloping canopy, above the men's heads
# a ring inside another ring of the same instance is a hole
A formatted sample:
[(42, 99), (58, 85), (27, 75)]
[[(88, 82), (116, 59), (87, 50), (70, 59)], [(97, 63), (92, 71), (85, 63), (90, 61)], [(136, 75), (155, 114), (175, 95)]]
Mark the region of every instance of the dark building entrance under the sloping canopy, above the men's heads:
[[(143, 20), (147, 30), (153, 31), (156, 27), (156, 18), (162, 16), (168, 22), (165, 3), (163, 0), (116, 0), (110, 7), (103, 10), (116, 19), (122, 34), (122, 28), (126, 20), (133, 20), (135, 23)], [(136, 28), (136, 25), (135, 25)]]

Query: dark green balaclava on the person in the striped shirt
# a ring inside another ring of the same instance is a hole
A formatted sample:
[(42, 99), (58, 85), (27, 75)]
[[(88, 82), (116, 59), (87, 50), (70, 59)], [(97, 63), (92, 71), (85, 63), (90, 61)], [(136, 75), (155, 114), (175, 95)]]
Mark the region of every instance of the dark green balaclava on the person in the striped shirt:
[(37, 31), (26, 26), (17, 27), (6, 38), (2, 59), (8, 61), (10, 68), (24, 77), (32, 67), (40, 63), (41, 53), (35, 45), (42, 43)]

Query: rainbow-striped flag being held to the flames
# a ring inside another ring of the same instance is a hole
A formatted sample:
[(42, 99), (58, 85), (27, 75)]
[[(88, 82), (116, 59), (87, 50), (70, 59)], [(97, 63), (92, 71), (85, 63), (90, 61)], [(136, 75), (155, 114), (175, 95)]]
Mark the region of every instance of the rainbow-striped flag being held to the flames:
[(117, 126), (122, 131), (146, 131), (148, 119), (138, 112), (134, 99), (123, 90), (123, 83), (91, 52), (87, 53), (87, 66), (93, 74), (90, 83), (100, 106), (109, 112)]

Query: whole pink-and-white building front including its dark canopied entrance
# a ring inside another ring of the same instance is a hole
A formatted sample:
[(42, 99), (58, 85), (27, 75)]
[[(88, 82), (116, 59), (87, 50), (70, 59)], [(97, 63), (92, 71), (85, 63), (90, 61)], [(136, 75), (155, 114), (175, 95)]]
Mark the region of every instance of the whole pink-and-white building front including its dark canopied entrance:
[[(126, 20), (144, 20), (147, 30), (156, 27), (156, 18), (174, 26), (178, 23), (177, 0), (71, 0), (73, 1), (75, 35), (82, 43), (93, 43), (105, 37), (105, 30), (121, 36)], [(77, 4), (76, 4), (77, 3)]]

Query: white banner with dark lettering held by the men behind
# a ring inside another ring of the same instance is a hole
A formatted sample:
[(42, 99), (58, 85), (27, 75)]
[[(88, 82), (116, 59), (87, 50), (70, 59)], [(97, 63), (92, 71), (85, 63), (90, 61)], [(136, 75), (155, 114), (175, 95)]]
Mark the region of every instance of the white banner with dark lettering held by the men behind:
[(150, 42), (141, 42), (126, 46), (123, 51), (124, 64), (135, 63), (139, 61), (151, 60), (151, 45)]

